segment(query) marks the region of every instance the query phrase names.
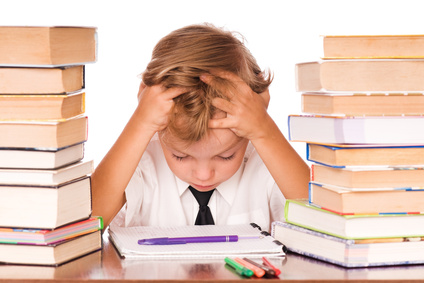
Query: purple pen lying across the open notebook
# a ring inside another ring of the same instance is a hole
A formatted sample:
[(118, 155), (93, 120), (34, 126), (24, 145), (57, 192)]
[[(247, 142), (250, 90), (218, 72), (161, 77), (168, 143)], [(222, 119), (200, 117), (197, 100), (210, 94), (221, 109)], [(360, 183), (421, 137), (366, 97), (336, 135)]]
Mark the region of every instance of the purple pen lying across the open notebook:
[(189, 243), (237, 242), (237, 235), (182, 238), (151, 238), (138, 240), (139, 245), (179, 245)]

